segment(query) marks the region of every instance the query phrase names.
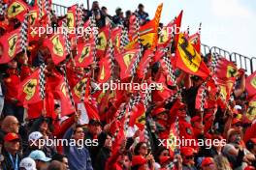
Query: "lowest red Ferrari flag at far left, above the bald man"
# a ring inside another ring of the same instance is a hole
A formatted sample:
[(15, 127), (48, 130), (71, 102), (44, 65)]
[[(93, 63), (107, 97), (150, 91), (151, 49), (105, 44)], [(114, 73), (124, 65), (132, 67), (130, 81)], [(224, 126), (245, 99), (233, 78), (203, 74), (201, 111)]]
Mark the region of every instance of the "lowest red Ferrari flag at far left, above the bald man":
[(34, 71), (18, 87), (18, 99), (23, 105), (42, 100), (40, 97), (39, 72), (39, 69)]

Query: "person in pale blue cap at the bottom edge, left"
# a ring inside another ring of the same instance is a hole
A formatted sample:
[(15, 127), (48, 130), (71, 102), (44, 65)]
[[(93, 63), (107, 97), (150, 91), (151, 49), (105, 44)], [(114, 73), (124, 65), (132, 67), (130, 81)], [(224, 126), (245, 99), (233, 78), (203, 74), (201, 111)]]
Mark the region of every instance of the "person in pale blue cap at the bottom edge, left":
[(48, 162), (51, 158), (47, 157), (43, 151), (36, 150), (30, 153), (29, 157), (36, 161), (37, 169), (44, 170), (48, 167)]

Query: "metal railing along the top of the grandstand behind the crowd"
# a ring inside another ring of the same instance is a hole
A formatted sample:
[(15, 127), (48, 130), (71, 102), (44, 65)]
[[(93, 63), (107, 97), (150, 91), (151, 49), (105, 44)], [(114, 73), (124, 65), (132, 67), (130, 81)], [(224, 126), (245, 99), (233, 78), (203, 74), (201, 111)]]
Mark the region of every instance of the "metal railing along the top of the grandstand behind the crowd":
[[(54, 14), (62, 16), (67, 13), (68, 7), (52, 3), (52, 10), (54, 11)], [(229, 52), (217, 46), (209, 47), (207, 44), (201, 45), (201, 53), (203, 55), (206, 55), (211, 52), (217, 52), (221, 56), (225, 57), (227, 60), (233, 61), (237, 64), (239, 68), (244, 69), (247, 74), (251, 74), (253, 71), (256, 71), (255, 57), (246, 57), (236, 52)]]

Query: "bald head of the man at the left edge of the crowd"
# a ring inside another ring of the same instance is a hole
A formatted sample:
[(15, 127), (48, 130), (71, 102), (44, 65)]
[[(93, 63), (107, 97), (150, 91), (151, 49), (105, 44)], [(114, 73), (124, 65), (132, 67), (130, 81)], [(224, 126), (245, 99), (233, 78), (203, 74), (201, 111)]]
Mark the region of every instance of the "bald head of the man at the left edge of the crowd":
[(1, 127), (5, 132), (18, 133), (19, 124), (15, 116), (7, 116), (2, 122)]

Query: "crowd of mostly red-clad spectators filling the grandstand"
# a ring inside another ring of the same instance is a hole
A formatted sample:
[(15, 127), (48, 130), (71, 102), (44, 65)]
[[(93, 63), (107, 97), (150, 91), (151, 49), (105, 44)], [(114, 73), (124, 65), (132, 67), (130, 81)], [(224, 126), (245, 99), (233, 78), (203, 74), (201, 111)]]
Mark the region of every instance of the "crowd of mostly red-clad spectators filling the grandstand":
[[(141, 25), (149, 20), (142, 4), (134, 13), (139, 16)], [(95, 1), (91, 10), (83, 11), (83, 19), (87, 20), (92, 14), (95, 14), (97, 26), (102, 28), (106, 25), (106, 17), (113, 25), (123, 24), (129, 27), (129, 18), (133, 13), (127, 11), (124, 16), (122, 9), (117, 8), (115, 15), (112, 16), (108, 14), (106, 7), (100, 8), (99, 3)], [(58, 17), (55, 15), (53, 18), (57, 23)], [(1, 22), (4, 19), (5, 17), (1, 16)], [(9, 27), (17, 27), (20, 24), (16, 21), (12, 23), (13, 25), (9, 24)], [(6, 29), (1, 24), (1, 36), (6, 33)], [(0, 56), (1, 54), (2, 49), (0, 49)], [(209, 59), (210, 55), (205, 56), (208, 67), (210, 67)], [(200, 111), (195, 108), (195, 102), (199, 87), (204, 80), (179, 71), (176, 75), (178, 85), (184, 88), (182, 99), (176, 99), (168, 104), (153, 99), (146, 110), (145, 126), (150, 146), (146, 140), (140, 140), (144, 131), (136, 129), (132, 135), (124, 137), (118, 148), (113, 150), (114, 134), (110, 130), (111, 123), (104, 119), (101, 121), (91, 119), (88, 125), (81, 126), (79, 124), (80, 111), (78, 114), (61, 118), (59, 116), (61, 107), (58, 102), (53, 104), (51, 115), (40, 104), (29, 105), (28, 108), (23, 107), (17, 99), (18, 85), (44, 62), (48, 65), (46, 76), (54, 81), (55, 74), (59, 70), (48, 57), (44, 46), (39, 45), (35, 51), (28, 51), (27, 55), (19, 53), (7, 65), (0, 65), (0, 169), (164, 170), (169, 169), (174, 160), (172, 168), (179, 170), (255, 169), (256, 124), (245, 117), (248, 101), (245, 95), (246, 75), (244, 71), (240, 70), (236, 87), (232, 91), (235, 99), (231, 101), (230, 108), (223, 109), (214, 105), (212, 108), (205, 109), (203, 122)], [(71, 74), (69, 78), (79, 78), (81, 69), (72, 69), (68, 72)], [(159, 63), (150, 66), (152, 80), (156, 81), (162, 76)], [(91, 79), (91, 81), (94, 80)], [(171, 87), (168, 86), (168, 88)], [(129, 95), (128, 92), (127, 95)], [(110, 103), (103, 113), (112, 116), (115, 112), (116, 108)], [(28, 119), (27, 115), (31, 113), (40, 116)], [(159, 139), (170, 137), (170, 126), (175, 122), (176, 116), (179, 118), (180, 136), (187, 139), (226, 139), (225, 145), (213, 143), (210, 148), (195, 145), (181, 146), (178, 148), (180, 154), (161, 146)], [(56, 138), (74, 139), (76, 145), (41, 145), (42, 139)], [(97, 139), (97, 145), (79, 147), (80, 139), (90, 141)]]

